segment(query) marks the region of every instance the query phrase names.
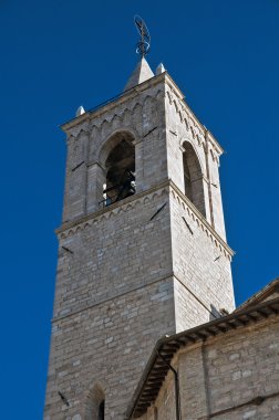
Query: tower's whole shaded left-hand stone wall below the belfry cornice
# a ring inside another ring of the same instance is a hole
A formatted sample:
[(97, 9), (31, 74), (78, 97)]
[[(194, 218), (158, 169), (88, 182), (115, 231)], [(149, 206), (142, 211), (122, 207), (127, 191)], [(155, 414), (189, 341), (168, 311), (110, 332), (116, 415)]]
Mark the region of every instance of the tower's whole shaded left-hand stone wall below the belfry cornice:
[(156, 340), (175, 333), (169, 230), (162, 188), (59, 233), (45, 419), (83, 419), (95, 384), (106, 418), (123, 418)]

